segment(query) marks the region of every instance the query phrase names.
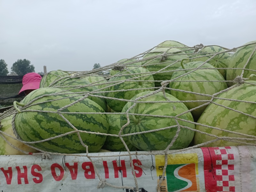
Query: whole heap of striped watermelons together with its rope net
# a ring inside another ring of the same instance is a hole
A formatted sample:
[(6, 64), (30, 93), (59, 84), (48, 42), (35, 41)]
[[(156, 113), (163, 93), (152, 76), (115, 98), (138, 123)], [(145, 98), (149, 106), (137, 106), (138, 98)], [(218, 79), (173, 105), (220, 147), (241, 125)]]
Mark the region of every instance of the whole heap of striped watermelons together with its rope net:
[[(167, 154), (256, 144), (255, 50), (256, 41), (233, 49), (165, 41), (91, 71), (51, 71), (40, 89), (0, 114), (12, 116), (15, 135), (1, 136), (17, 137), (43, 158), (165, 155), (164, 178)], [(99, 188), (133, 189), (96, 173)]]

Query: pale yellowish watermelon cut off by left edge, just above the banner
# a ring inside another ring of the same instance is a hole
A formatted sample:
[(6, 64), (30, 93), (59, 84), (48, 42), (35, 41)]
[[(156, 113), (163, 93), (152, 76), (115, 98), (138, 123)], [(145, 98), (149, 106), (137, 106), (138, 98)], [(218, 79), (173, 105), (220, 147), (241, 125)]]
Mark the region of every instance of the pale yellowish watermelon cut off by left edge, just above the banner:
[[(5, 132), (13, 137), (15, 135), (12, 132), (12, 116), (5, 117), (0, 121), (1, 131)], [(11, 137), (2, 134), (6, 140), (8, 140), (13, 146), (31, 153), (37, 153), (36, 149), (33, 149), (31, 147), (28, 147), (26, 144), (20, 142), (19, 140), (12, 139)], [(3, 137), (0, 137), (0, 155), (25, 155), (24, 153), (20, 152), (19, 150), (13, 148), (11, 145), (9, 145)]]

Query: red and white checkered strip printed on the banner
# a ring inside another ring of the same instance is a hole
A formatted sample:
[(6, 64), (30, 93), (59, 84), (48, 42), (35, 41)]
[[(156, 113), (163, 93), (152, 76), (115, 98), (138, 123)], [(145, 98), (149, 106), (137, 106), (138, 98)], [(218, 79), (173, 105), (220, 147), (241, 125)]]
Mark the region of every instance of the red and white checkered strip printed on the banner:
[(216, 180), (217, 192), (235, 192), (234, 154), (229, 153), (230, 147), (216, 147)]

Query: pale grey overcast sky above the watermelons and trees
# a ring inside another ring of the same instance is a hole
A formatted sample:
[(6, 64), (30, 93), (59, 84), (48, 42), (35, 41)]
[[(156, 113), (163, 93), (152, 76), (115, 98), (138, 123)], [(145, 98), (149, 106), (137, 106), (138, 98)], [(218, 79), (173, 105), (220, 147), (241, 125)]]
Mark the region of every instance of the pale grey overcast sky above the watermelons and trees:
[(91, 70), (165, 40), (238, 47), (256, 40), (256, 0), (0, 0), (0, 59), (36, 72)]

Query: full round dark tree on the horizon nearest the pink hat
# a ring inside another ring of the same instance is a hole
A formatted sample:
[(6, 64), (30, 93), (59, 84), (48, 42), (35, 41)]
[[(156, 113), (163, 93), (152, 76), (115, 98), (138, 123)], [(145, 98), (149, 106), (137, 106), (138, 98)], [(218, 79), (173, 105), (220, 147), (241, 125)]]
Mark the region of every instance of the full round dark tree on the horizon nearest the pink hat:
[(13, 72), (17, 73), (17, 75), (25, 75), (27, 73), (35, 72), (35, 67), (26, 59), (18, 59), (12, 64), (11, 69)]

